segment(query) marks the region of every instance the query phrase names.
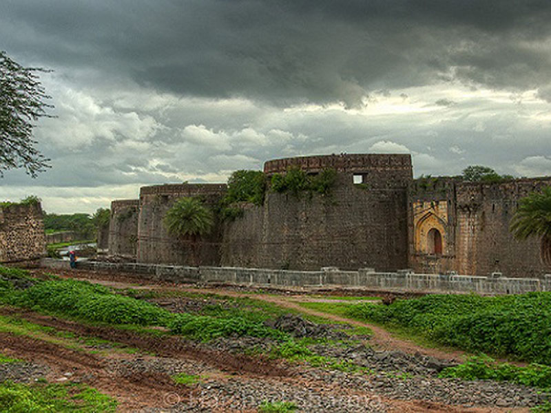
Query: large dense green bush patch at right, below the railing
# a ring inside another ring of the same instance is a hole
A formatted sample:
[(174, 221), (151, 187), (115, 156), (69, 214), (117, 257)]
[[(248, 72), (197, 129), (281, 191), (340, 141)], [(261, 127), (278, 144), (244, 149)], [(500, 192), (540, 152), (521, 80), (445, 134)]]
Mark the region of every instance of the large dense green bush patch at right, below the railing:
[(390, 306), (357, 304), (348, 313), (408, 328), (446, 346), (551, 363), (551, 293), (427, 295)]

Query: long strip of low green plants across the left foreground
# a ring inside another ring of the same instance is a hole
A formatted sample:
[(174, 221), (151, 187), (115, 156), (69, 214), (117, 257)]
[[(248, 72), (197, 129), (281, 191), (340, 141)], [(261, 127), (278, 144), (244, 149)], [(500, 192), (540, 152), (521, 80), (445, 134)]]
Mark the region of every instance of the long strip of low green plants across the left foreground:
[(265, 308), (244, 311), (214, 306), (205, 315), (174, 314), (147, 301), (115, 294), (105, 286), (74, 279), (49, 279), (26, 290), (14, 290), (6, 282), (0, 284), (0, 303), (110, 326), (160, 326), (203, 341), (220, 336), (286, 337), (262, 324)]

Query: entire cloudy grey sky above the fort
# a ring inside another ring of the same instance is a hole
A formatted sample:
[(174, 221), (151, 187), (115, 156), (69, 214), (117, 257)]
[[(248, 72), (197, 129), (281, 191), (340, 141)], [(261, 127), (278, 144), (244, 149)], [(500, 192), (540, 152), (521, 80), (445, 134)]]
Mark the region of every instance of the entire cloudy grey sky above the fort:
[(2, 0), (0, 50), (52, 69), (52, 168), (0, 199), (93, 212), (265, 160), (411, 153), (414, 175), (551, 175), (549, 0)]

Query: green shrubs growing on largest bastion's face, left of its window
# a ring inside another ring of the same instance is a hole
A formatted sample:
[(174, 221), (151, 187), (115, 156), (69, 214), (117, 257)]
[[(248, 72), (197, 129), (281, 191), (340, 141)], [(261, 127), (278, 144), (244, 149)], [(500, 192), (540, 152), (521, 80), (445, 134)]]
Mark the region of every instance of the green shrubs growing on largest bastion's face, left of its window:
[(309, 176), (299, 167), (291, 167), (287, 173), (274, 173), (271, 178), (271, 189), (278, 193), (291, 193), (296, 197), (304, 191), (329, 195), (337, 180), (335, 169), (323, 169), (315, 176)]

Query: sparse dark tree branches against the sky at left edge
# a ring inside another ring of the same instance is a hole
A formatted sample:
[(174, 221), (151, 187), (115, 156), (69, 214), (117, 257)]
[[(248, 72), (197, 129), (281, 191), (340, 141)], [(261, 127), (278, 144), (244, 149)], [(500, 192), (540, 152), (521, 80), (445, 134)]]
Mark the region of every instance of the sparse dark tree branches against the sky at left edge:
[(34, 147), (33, 122), (49, 116), (49, 98), (38, 81), (37, 67), (23, 67), (0, 51), (0, 176), (8, 169), (25, 168), (35, 178), (49, 159)]

